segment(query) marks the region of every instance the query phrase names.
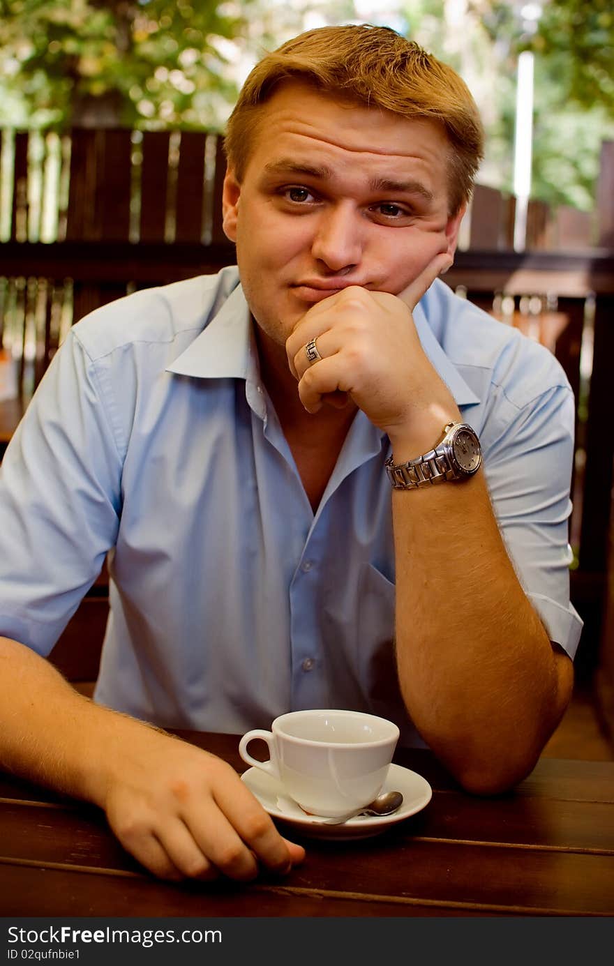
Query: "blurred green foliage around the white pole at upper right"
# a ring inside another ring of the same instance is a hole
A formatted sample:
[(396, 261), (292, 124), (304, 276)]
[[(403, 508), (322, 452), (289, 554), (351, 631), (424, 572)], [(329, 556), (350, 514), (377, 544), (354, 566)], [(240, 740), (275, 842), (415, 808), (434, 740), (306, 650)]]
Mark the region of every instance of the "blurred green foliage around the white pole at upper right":
[[(499, 117), (489, 130), (491, 157), (512, 154), (515, 91), (521, 50), (535, 54), (533, 194), (552, 206), (595, 206), (600, 145), (614, 137), (614, 10), (611, 0), (542, 0), (538, 21), (522, 5), (471, 0), (469, 12), (497, 52)], [(506, 84), (505, 78), (509, 83)], [(482, 105), (481, 105), (482, 106)], [(511, 186), (511, 165), (506, 182)]]

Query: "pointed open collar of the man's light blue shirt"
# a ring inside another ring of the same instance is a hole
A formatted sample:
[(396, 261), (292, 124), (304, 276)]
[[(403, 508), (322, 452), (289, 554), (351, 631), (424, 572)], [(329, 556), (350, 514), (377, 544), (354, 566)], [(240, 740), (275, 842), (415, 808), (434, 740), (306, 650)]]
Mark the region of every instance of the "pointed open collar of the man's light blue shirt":
[[(480, 398), (465, 382), (445, 354), (428, 324), (422, 301), (413, 311), (414, 323), (425, 354), (447, 384), (457, 406), (471, 406)], [(258, 355), (249, 306), (241, 285), (226, 298), (219, 312), (175, 361), (167, 372), (200, 379), (259, 379)]]

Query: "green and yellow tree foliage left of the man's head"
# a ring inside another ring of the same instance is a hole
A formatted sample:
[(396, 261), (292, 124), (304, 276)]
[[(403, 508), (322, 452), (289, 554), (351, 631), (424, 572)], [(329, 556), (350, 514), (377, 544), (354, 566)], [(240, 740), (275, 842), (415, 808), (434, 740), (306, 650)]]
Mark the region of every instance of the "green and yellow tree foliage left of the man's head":
[(97, 108), (128, 126), (210, 127), (236, 94), (228, 41), (248, 13), (216, 0), (2, 0), (0, 81), (29, 127)]

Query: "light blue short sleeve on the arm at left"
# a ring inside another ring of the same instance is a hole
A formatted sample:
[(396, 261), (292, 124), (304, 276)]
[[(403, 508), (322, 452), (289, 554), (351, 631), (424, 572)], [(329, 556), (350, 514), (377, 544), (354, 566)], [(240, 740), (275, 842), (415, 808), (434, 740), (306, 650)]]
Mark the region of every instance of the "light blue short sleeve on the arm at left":
[(0, 634), (47, 654), (117, 536), (121, 459), (71, 331), (0, 466)]

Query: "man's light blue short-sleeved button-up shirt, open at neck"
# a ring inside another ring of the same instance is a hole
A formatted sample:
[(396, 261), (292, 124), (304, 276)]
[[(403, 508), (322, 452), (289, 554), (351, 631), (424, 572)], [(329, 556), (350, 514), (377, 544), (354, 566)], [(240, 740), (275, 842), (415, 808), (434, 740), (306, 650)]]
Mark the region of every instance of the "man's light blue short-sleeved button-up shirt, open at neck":
[[(480, 434), (518, 577), (572, 657), (566, 377), (440, 280), (414, 318)], [(73, 327), (5, 455), (0, 633), (47, 654), (109, 552), (100, 702), (234, 732), (364, 709), (420, 743), (395, 683), (389, 454), (358, 412), (313, 513), (235, 268), (112, 302)]]

